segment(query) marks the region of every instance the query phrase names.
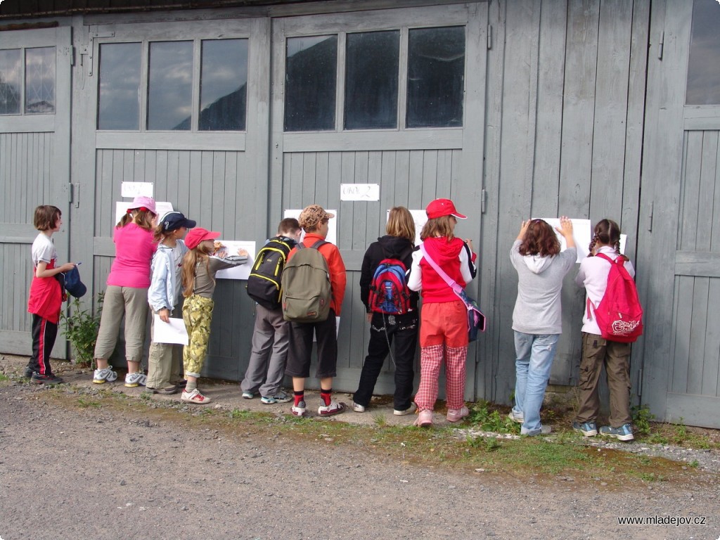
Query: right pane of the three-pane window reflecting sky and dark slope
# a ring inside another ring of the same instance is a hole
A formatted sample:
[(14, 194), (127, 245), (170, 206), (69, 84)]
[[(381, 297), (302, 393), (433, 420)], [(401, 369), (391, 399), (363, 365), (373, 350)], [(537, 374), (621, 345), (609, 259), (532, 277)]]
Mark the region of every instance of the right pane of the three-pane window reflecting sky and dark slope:
[(202, 42), (200, 130), (245, 129), (248, 40)]

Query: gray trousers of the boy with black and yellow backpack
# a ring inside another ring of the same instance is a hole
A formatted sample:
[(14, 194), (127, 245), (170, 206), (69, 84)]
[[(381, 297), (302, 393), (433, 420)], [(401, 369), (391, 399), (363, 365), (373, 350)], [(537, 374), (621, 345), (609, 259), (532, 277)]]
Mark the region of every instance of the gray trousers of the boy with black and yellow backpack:
[(290, 323), (282, 318), (282, 309), (256, 305), (253, 351), (240, 383), (243, 392), (260, 390), (263, 396), (276, 395), (285, 373), (289, 330)]

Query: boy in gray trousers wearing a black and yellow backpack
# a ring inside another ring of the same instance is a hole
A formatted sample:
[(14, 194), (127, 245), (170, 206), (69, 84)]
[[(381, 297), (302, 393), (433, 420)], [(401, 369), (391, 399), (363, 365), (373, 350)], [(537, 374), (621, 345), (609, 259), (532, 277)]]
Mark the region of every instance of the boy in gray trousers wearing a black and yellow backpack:
[(277, 228), (277, 236), (258, 251), (248, 276), (248, 295), (255, 300), (253, 350), (245, 378), (240, 383), (243, 397), (251, 400), (256, 392), (266, 405), (287, 403), (292, 397), (280, 390), (285, 373), (289, 326), (282, 316), (281, 279), (287, 256), (300, 241), (300, 224), (286, 217)]

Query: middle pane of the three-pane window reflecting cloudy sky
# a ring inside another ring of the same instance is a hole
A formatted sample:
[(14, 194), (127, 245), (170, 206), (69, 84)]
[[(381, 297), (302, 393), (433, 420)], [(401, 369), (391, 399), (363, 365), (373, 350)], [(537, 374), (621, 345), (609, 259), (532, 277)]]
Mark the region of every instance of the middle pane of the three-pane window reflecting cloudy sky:
[(148, 130), (192, 127), (192, 41), (150, 43)]

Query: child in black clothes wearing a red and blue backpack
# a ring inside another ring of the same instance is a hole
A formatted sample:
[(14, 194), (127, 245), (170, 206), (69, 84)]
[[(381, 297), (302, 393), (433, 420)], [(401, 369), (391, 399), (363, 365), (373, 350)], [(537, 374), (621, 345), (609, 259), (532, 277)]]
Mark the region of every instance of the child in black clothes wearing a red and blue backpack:
[[(413, 363), (418, 346), (418, 292), (408, 288), (415, 249), (415, 221), (410, 210), (395, 207), (387, 216), (387, 233), (367, 248), (360, 273), (360, 295), (370, 323), (370, 341), (362, 365), (353, 410), (364, 413), (375, 390), (385, 358), (395, 366), (394, 411), (397, 416), (415, 412)], [(390, 346), (394, 343), (394, 353)]]

